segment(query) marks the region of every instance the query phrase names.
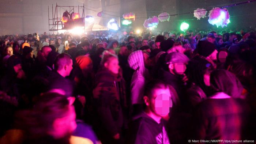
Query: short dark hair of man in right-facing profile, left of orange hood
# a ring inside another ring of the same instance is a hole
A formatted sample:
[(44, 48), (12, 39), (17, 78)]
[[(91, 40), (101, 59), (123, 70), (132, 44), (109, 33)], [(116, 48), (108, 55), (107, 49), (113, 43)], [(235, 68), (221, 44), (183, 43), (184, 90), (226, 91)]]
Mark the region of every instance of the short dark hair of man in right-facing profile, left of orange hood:
[(54, 70), (60, 70), (63, 69), (64, 65), (70, 64), (70, 60), (72, 60), (72, 57), (67, 53), (59, 54), (56, 59), (54, 60)]

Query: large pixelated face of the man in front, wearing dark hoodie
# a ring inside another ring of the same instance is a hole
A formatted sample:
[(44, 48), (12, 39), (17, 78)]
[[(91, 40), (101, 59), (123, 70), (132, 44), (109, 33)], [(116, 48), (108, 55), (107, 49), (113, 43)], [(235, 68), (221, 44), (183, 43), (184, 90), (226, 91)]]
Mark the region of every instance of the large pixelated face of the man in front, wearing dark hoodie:
[(170, 90), (167, 89), (155, 89), (152, 99), (150, 100), (151, 110), (163, 117), (169, 113), (170, 107), (172, 107), (172, 100)]

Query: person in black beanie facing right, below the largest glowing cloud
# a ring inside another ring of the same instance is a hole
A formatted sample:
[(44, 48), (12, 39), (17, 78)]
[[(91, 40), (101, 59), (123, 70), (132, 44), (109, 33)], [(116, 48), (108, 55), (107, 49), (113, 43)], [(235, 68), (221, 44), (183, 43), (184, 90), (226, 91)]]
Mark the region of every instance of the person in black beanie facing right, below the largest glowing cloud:
[(217, 68), (215, 61), (217, 61), (218, 51), (215, 49), (215, 45), (208, 41), (199, 41), (197, 45), (197, 52), (200, 58), (203, 58), (210, 62), (214, 68)]

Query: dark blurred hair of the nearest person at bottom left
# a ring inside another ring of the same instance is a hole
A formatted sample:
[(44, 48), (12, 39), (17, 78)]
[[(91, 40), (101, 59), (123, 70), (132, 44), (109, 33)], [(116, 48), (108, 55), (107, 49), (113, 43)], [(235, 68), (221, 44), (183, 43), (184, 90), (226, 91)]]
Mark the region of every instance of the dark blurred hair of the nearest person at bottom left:
[(54, 120), (64, 117), (68, 110), (69, 101), (65, 96), (45, 93), (38, 97), (33, 109), (19, 111), (15, 123), (29, 137), (43, 137), (52, 129)]

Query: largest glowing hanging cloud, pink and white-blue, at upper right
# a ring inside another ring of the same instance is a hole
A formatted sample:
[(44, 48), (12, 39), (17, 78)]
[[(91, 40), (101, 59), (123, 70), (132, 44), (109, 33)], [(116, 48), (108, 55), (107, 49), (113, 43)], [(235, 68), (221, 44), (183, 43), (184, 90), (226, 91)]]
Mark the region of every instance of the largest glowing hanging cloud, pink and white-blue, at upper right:
[(224, 27), (230, 23), (229, 17), (229, 11), (226, 8), (221, 9), (216, 7), (209, 12), (208, 22), (217, 27)]

